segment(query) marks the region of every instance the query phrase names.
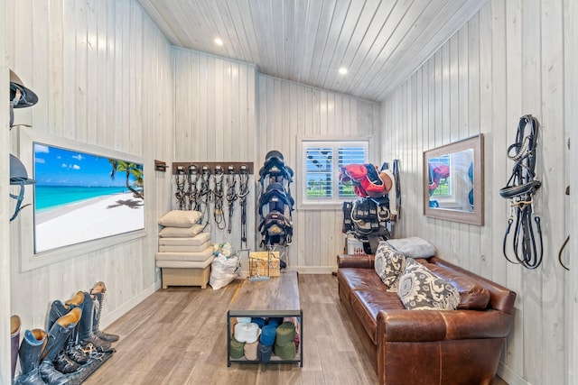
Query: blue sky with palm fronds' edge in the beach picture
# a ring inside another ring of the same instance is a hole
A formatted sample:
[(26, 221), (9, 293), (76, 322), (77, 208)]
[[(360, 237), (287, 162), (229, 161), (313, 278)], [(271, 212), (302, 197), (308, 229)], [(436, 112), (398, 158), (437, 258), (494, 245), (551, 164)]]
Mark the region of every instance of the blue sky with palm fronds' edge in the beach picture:
[[(123, 187), (126, 173), (110, 178), (107, 157), (34, 143), (34, 179), (39, 186)], [(130, 184), (134, 183), (131, 177)]]

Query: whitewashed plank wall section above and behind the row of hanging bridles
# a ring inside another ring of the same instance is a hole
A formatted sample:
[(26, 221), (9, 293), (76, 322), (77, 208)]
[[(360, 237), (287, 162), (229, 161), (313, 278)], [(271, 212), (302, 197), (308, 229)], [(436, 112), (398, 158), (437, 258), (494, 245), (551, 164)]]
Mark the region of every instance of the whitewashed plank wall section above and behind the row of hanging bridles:
[[(256, 153), (256, 68), (194, 50), (172, 49), (174, 67), (174, 161), (223, 162), (255, 161)], [(256, 168), (258, 171), (258, 167)], [(247, 247), (255, 250), (255, 178), (249, 178), (247, 196)], [(200, 187), (200, 183), (199, 183)], [(214, 184), (211, 182), (211, 188)], [(227, 184), (223, 182), (225, 193)], [(237, 182), (237, 191), (239, 182)], [(172, 207), (178, 208), (172, 182)], [(210, 207), (210, 234), (213, 243), (228, 242), (241, 247), (241, 211), (235, 203), (231, 233), (219, 229)], [(227, 200), (224, 210), (228, 221)], [(247, 253), (242, 253), (246, 257)], [(247, 270), (246, 261), (242, 261)]]

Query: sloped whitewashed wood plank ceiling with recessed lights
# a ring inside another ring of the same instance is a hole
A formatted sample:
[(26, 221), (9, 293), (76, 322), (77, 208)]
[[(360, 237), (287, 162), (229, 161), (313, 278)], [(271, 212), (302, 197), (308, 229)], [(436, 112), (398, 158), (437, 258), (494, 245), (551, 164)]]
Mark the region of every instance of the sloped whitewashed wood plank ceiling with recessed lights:
[[(138, 0), (174, 46), (382, 101), (486, 0)], [(216, 38), (223, 41), (219, 46)], [(348, 73), (341, 75), (344, 67)]]

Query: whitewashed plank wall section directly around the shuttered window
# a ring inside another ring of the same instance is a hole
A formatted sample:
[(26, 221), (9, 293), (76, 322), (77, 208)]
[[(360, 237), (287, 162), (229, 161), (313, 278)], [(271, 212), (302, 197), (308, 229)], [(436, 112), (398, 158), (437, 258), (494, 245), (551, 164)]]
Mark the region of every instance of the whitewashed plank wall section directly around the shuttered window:
[[(258, 77), (258, 127), (256, 159), (262, 164), (267, 151), (283, 152), (296, 172), (292, 191), (300, 188), (300, 138), (372, 137), (380, 141), (380, 105), (301, 84)], [(370, 152), (377, 146), (371, 145)], [(378, 151), (369, 159), (380, 163)], [(294, 243), (289, 247), (289, 266), (303, 272), (335, 269), (335, 256), (343, 252), (341, 210), (296, 210), (293, 214)]]

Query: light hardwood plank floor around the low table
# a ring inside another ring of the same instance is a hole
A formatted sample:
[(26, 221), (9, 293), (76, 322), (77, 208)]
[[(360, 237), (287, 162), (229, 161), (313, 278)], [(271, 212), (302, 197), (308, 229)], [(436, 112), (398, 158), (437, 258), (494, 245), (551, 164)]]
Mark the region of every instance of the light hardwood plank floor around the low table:
[[(299, 275), (303, 368), (298, 363), (227, 367), (227, 309), (239, 281), (219, 290), (160, 289), (107, 327), (117, 353), (85, 384), (374, 384), (337, 279)], [(504, 385), (503, 380), (495, 381)], [(507, 384), (506, 384), (507, 385)]]

